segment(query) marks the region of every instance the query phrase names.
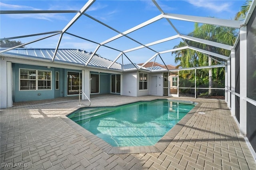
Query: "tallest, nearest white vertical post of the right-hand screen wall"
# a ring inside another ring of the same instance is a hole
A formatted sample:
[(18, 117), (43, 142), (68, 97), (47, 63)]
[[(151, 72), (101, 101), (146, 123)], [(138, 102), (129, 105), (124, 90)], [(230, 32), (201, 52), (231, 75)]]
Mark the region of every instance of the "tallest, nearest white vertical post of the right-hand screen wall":
[(240, 135), (246, 136), (247, 125), (247, 26), (240, 28)]

